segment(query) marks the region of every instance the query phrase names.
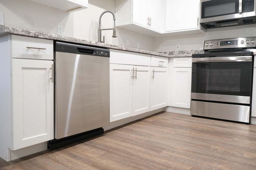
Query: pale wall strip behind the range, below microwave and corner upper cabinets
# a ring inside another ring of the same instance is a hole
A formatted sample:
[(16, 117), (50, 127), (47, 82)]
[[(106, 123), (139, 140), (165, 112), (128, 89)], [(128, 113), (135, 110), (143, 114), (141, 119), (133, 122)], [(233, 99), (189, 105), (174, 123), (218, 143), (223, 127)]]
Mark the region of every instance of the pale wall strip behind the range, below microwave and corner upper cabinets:
[(175, 51), (176, 44), (180, 45), (180, 50), (200, 50), (205, 40), (234, 37), (256, 37), (256, 24), (207, 29), (206, 33), (156, 37), (154, 51)]

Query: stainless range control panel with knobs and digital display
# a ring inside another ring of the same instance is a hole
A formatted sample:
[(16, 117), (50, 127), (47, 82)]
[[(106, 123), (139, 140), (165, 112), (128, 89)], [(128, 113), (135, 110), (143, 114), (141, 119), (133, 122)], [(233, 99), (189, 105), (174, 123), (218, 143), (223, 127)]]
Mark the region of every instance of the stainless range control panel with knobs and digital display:
[(204, 50), (216, 49), (255, 49), (256, 37), (229, 38), (204, 41)]

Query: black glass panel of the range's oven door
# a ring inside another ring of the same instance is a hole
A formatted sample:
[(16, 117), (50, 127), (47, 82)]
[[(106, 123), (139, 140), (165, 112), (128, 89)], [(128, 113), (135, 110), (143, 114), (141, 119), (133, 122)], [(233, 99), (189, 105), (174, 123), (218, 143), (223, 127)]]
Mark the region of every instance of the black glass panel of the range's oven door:
[(193, 63), (193, 93), (250, 96), (252, 62)]

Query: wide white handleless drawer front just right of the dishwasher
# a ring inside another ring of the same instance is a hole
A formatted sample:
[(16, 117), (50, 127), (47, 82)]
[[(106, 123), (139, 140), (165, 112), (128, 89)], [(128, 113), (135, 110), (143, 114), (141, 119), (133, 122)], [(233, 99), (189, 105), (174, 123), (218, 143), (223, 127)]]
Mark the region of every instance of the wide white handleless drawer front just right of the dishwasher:
[(150, 55), (110, 49), (110, 63), (150, 66)]

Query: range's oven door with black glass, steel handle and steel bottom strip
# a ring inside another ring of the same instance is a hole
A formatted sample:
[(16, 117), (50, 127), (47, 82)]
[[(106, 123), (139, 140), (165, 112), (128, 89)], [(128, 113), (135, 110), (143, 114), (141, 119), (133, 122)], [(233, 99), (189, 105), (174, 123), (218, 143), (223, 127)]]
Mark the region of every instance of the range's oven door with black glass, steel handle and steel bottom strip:
[(191, 99), (250, 104), (252, 56), (192, 59)]

